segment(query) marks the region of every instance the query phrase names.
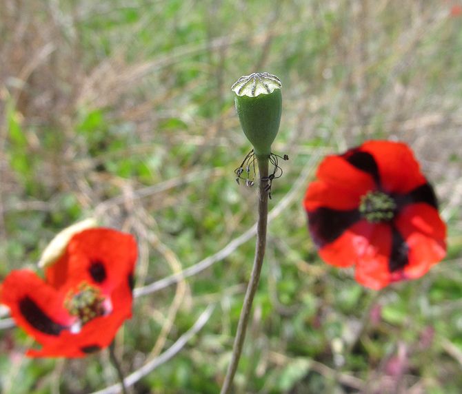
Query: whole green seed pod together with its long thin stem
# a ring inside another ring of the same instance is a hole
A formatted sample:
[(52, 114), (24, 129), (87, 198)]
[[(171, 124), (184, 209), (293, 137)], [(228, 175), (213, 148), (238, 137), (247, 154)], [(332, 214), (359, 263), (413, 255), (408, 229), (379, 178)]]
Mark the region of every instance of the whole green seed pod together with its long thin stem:
[[(282, 113), (281, 81), (268, 72), (254, 72), (241, 76), (231, 87), (235, 93), (234, 104), (242, 130), (254, 149), (248, 154), (241, 167), (237, 170), (237, 180), (242, 174), (243, 165), (250, 157), (251, 163), (257, 159), (259, 169), (259, 203), (257, 221), (257, 245), (255, 247), (254, 265), (245, 291), (245, 298), (237, 324), (237, 333), (234, 338), (231, 362), (226, 372), (221, 394), (230, 392), (234, 375), (237, 371), (239, 358), (245, 340), (245, 331), (252, 311), (254, 295), (259, 285), (263, 256), (266, 247), (266, 227), (268, 226), (268, 197), (270, 196), (271, 182), (274, 178), (269, 176), (270, 159), (272, 158), (271, 145), (279, 131)], [(273, 163), (273, 162), (272, 162)], [(277, 164), (277, 162), (276, 162)], [(246, 173), (249, 176), (249, 163)], [(275, 170), (276, 171), (276, 170)], [(252, 186), (253, 180), (247, 178), (246, 184)]]

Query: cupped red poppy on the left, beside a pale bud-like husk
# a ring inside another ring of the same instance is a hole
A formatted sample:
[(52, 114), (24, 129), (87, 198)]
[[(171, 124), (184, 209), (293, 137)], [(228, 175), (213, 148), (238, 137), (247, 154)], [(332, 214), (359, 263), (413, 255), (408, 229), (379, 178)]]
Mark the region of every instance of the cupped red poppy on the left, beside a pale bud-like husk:
[(27, 269), (12, 271), (0, 302), (42, 345), (31, 357), (83, 357), (108, 346), (132, 315), (137, 245), (130, 234), (87, 229), (74, 234), (45, 280)]

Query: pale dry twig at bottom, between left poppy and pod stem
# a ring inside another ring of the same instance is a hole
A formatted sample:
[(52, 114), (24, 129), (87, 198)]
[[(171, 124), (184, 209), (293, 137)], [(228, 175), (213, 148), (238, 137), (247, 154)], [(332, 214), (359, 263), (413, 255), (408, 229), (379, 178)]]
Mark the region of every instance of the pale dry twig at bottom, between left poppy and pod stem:
[[(154, 358), (154, 360), (151, 360), (150, 362), (147, 362), (146, 364), (141, 366), (140, 369), (138, 369), (137, 371), (134, 371), (133, 373), (125, 377), (125, 379), (123, 380), (123, 382), (125, 383), (125, 386), (127, 388), (133, 386), (142, 377), (145, 377), (146, 375), (154, 371), (154, 369), (156, 369), (158, 366), (164, 364), (165, 362), (170, 360), (170, 358), (176, 355), (179, 351), (181, 351), (181, 349), (183, 349), (185, 344), (187, 344), (188, 341), (194, 335), (196, 335), (199, 331), (201, 331), (203, 326), (205, 326), (205, 323), (207, 323), (208, 320), (210, 319), (210, 316), (212, 315), (214, 308), (215, 308), (214, 305), (209, 305), (207, 309), (205, 309), (205, 311), (201, 313), (201, 315), (196, 320), (194, 325), (188, 331), (186, 331), (183, 335), (181, 335), (181, 337), (178, 338), (178, 340), (174, 344), (172, 344), (170, 348), (168, 348), (161, 355), (159, 355), (159, 357)], [(114, 384), (112, 386), (103, 388), (103, 390), (95, 391), (92, 394), (117, 394), (119, 390), (120, 390), (120, 384)]]

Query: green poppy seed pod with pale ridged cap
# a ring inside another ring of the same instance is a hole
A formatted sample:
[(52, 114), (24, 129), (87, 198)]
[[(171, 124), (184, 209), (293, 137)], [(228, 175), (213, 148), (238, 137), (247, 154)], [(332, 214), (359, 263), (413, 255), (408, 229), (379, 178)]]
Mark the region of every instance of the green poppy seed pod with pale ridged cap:
[(281, 81), (268, 72), (253, 73), (241, 76), (231, 89), (236, 93), (239, 122), (255, 156), (269, 157), (281, 122)]

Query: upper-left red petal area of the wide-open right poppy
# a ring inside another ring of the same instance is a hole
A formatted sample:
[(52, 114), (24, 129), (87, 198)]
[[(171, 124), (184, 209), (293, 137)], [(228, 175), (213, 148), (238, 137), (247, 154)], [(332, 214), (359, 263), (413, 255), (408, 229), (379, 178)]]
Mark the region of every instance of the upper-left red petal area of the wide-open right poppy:
[(375, 188), (372, 177), (357, 169), (341, 156), (328, 156), (317, 171), (319, 181), (310, 184), (306, 191), (305, 209), (319, 207), (354, 209), (363, 194)]

